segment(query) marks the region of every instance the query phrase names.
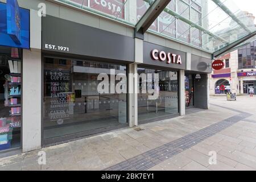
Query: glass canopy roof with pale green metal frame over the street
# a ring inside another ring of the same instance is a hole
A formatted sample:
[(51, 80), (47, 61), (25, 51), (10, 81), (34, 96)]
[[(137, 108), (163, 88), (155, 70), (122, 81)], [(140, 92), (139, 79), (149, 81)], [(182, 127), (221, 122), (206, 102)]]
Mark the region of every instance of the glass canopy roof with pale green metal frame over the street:
[[(58, 1), (135, 27), (159, 0)], [(214, 53), (254, 40), (247, 38), (256, 35), (254, 19), (233, 0), (171, 0), (147, 32)]]

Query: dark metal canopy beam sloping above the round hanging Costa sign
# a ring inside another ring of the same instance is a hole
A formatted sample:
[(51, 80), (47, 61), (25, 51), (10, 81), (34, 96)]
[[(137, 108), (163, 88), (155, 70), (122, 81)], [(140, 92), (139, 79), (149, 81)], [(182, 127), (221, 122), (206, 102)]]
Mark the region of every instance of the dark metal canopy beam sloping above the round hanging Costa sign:
[(220, 50), (213, 53), (213, 58), (214, 57), (220, 57), (221, 55), (224, 55), (225, 53), (229, 52), (232, 48), (234, 48), (236, 46), (239, 46), (240, 44), (242, 44), (243, 42), (252, 38), (255, 35), (256, 35), (256, 31), (254, 31), (253, 33), (251, 33), (249, 35), (246, 35), (245, 37), (237, 40), (236, 42), (233, 42), (233, 43), (229, 44), (226, 47), (221, 48)]

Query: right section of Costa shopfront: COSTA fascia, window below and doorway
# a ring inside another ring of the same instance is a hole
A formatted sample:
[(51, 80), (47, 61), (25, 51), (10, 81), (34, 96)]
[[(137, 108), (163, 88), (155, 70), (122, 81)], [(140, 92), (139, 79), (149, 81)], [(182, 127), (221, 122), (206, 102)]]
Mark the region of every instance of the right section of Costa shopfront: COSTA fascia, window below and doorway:
[[(139, 92), (138, 123), (176, 117), (184, 114), (186, 107), (208, 109), (211, 63), (212, 60), (204, 57), (143, 42), (143, 63), (138, 64), (138, 74), (159, 74), (158, 83), (152, 79), (159, 96), (148, 100), (148, 93)], [(139, 77), (140, 90), (142, 85), (143, 77)]]

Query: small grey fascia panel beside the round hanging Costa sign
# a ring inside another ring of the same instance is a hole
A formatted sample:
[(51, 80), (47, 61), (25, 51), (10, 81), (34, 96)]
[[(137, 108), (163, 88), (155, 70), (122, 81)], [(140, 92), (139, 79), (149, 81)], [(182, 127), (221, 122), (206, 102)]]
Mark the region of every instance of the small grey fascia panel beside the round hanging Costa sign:
[(191, 55), (191, 71), (212, 73), (212, 60), (205, 57)]

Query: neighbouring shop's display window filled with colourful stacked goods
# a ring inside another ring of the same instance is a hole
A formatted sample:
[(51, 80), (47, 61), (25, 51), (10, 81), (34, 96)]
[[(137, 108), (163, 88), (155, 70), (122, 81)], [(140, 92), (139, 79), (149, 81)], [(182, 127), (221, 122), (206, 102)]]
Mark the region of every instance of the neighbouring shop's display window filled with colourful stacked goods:
[(0, 47), (0, 152), (20, 147), (22, 61), (16, 48)]

